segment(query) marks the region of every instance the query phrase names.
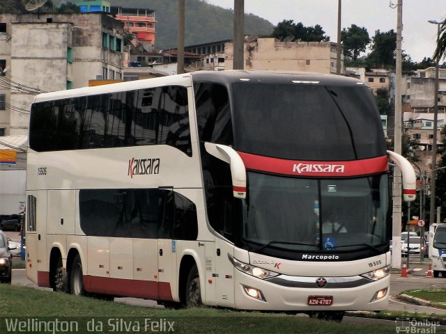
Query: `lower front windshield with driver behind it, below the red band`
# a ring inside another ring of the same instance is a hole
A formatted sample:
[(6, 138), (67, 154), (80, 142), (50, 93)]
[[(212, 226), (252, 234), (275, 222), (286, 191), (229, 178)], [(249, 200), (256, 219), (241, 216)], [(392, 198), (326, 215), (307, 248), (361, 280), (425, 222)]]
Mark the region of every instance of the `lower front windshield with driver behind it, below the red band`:
[(387, 243), (385, 174), (348, 180), (247, 174), (242, 239), (249, 244), (265, 251), (342, 252)]

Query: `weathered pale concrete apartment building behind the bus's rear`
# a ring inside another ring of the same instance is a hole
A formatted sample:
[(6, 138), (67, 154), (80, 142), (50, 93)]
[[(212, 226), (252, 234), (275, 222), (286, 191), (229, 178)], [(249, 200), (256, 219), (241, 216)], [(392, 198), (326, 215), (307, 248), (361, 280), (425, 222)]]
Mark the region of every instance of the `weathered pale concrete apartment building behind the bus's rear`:
[(106, 13), (0, 14), (0, 50), (0, 134), (24, 135), (37, 93), (122, 79), (123, 23)]

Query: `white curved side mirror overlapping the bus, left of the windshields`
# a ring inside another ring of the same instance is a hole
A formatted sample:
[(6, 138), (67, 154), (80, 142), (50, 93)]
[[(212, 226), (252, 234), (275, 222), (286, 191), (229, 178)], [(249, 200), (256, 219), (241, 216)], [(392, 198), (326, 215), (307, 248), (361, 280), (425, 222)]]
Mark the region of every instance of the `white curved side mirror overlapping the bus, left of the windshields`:
[(209, 154), (229, 164), (233, 196), (235, 198), (246, 198), (246, 169), (240, 155), (233, 148), (226, 145), (206, 142), (204, 147)]

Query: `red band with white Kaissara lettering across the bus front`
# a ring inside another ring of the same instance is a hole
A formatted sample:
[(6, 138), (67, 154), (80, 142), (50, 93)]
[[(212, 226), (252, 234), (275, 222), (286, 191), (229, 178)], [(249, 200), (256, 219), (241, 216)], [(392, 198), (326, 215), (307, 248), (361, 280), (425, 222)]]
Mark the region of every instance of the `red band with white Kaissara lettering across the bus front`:
[(388, 170), (387, 155), (354, 161), (299, 161), (262, 157), (244, 152), (238, 154), (247, 169), (283, 175), (346, 177), (383, 173)]

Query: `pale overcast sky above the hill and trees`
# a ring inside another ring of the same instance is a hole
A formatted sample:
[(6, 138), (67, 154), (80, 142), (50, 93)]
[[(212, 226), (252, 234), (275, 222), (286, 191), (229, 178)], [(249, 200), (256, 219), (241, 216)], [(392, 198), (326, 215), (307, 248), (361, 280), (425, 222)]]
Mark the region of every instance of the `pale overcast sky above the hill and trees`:
[[(397, 0), (341, 0), (341, 28), (351, 24), (364, 27), (369, 37), (394, 29), (397, 31)], [(233, 9), (234, 0), (206, 0), (215, 6)], [(446, 0), (402, 0), (402, 49), (413, 61), (431, 57), (436, 48), (437, 25), (428, 20), (443, 22), (446, 18)], [(396, 6), (392, 6), (396, 7)], [(322, 26), (332, 42), (337, 41), (337, 0), (245, 0), (245, 13), (267, 19), (275, 26), (284, 19), (304, 26)]]

